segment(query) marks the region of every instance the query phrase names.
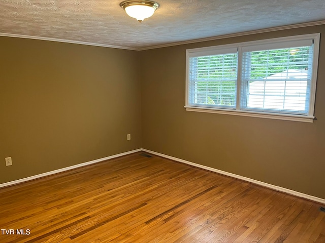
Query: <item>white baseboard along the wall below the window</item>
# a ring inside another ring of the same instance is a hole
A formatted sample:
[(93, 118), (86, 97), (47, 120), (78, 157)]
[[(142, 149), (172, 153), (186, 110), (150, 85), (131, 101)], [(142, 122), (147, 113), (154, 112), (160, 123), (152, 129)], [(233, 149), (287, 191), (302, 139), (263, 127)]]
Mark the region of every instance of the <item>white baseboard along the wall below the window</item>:
[(175, 161), (178, 161), (180, 163), (184, 163), (184, 164), (187, 164), (187, 165), (190, 165), (190, 166), (202, 168), (202, 169), (205, 169), (205, 170), (208, 170), (208, 171), (216, 172), (216, 173), (221, 174), (221, 175), (230, 176), (230, 177), (233, 177), (233, 178), (236, 178), (236, 179), (240, 179), (240, 180), (247, 181), (247, 182), (250, 182), (250, 183), (253, 183), (253, 184), (264, 186), (264, 187), (267, 187), (267, 188), (270, 188), (270, 189), (273, 189), (273, 190), (276, 190), (276, 191), (281, 191), (281, 192), (284, 192), (284, 193), (287, 193), (287, 194), (290, 194), (290, 195), (294, 195), (294, 196), (302, 197), (302, 198), (305, 198), (305, 199), (308, 199), (308, 200), (316, 201), (317, 203), (325, 204), (325, 199), (323, 199), (323, 198), (319, 198), (319, 197), (316, 197), (316, 196), (311, 196), (311, 195), (304, 194), (304, 193), (301, 193), (301, 192), (298, 192), (298, 191), (290, 190), (290, 189), (283, 188), (283, 187), (280, 187), (280, 186), (275, 186), (275, 185), (268, 184), (268, 183), (265, 183), (265, 182), (262, 182), (262, 181), (257, 181), (257, 180), (254, 180), (254, 179), (250, 179), (250, 178), (247, 178), (247, 177), (244, 177), (244, 176), (239, 176), (239, 175), (236, 175), (236, 174), (233, 174), (233, 173), (221, 171), (221, 170), (214, 169), (214, 168), (211, 168), (211, 167), (199, 165), (199, 164), (192, 163), (192, 162), (189, 162), (189, 161), (181, 159), (181, 158), (172, 157), (172, 156), (169, 156), (169, 155), (166, 155), (166, 154), (163, 154), (163, 153), (157, 153), (157, 152), (154, 152), (154, 151), (151, 151), (151, 150), (148, 150), (148, 149), (142, 149), (142, 150), (145, 151), (145, 152), (152, 153), (152, 154), (164, 157), (164, 158), (169, 158), (169, 159), (172, 159), (172, 160), (175, 160)]

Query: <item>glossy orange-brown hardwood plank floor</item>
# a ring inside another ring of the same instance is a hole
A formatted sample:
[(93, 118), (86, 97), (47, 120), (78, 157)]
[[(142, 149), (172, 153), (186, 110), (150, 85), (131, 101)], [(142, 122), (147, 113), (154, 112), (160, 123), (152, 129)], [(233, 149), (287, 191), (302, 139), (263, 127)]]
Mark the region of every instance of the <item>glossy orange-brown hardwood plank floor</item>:
[(140, 154), (0, 189), (0, 242), (325, 242), (317, 203)]

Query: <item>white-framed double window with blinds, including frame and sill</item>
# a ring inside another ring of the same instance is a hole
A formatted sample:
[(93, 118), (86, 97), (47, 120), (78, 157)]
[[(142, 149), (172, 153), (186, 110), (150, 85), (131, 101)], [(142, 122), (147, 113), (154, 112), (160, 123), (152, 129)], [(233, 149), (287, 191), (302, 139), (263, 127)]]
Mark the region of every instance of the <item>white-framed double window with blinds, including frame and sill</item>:
[(312, 122), (319, 34), (186, 50), (186, 110)]

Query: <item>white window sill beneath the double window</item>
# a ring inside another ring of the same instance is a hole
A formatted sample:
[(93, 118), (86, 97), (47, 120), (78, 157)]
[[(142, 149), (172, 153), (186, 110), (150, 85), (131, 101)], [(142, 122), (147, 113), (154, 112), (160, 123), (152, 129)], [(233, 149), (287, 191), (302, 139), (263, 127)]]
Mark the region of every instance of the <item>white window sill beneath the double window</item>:
[(307, 116), (307, 115), (258, 113), (253, 111), (215, 109), (209, 107), (194, 107), (194, 106), (184, 106), (184, 108), (186, 111), (216, 113), (216, 114), (224, 114), (224, 115), (240, 115), (240, 116), (250, 116), (250, 117), (258, 117), (258, 118), (277, 119), (277, 120), (301, 121), (304, 123), (313, 123), (315, 119), (315, 116)]

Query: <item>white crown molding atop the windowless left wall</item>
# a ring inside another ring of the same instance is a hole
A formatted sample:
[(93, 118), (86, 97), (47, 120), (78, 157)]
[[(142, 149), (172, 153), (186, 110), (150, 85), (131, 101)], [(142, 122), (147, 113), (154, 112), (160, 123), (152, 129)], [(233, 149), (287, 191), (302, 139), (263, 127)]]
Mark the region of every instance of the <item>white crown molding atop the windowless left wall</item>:
[(63, 43), (95, 46), (95, 47), (108, 47), (108, 48), (115, 48), (115, 49), (125, 49), (125, 50), (139, 51), (138, 48), (132, 48), (132, 47), (120, 47), (120, 46), (112, 46), (112, 45), (99, 44), (99, 43), (79, 42), (79, 41), (71, 41), (69, 39), (57, 39), (57, 38), (23, 35), (23, 34), (0, 33), (0, 36), (15, 37), (15, 38), (25, 38), (25, 39), (39, 39), (41, 41), (63, 42)]

